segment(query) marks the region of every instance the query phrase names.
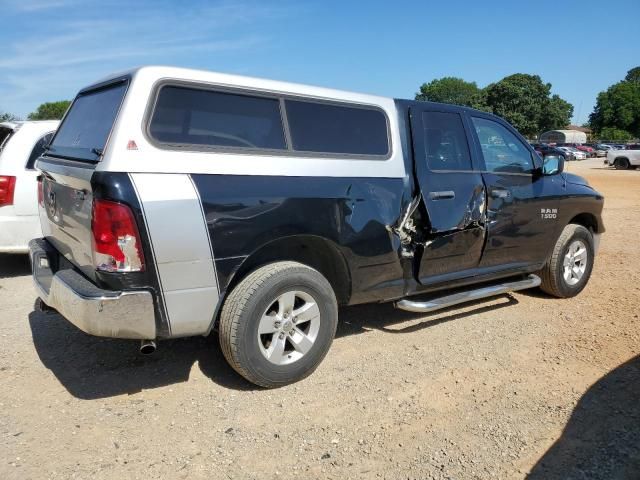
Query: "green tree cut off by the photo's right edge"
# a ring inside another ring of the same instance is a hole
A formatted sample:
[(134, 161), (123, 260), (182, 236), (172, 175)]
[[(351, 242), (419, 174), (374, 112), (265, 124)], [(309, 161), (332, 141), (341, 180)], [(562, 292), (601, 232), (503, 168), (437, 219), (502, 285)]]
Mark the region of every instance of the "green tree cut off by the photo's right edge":
[(640, 67), (632, 68), (623, 81), (598, 94), (589, 124), (600, 137), (606, 128), (640, 136)]

